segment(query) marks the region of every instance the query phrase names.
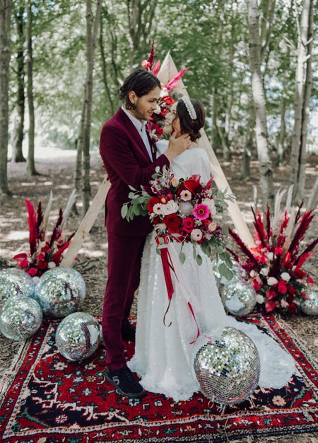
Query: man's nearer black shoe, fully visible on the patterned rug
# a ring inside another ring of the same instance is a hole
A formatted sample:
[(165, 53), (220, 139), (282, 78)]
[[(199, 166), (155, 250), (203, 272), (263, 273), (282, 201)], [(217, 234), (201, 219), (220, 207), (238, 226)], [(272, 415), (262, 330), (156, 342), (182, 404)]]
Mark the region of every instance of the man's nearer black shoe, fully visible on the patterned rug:
[(121, 369), (114, 369), (111, 371), (107, 369), (106, 379), (118, 389), (123, 396), (130, 398), (141, 398), (146, 396), (146, 391), (143, 389), (139, 381), (137, 381), (132, 374), (129, 367)]

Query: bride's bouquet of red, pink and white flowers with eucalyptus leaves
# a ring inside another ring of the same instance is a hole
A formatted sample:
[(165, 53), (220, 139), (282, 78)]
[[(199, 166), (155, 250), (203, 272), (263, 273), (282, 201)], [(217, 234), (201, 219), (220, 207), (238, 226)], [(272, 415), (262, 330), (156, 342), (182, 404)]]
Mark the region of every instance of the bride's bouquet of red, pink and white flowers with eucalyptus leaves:
[[(128, 221), (134, 216), (143, 215), (150, 218), (157, 233), (157, 251), (167, 248), (167, 244), (177, 241), (192, 243), (194, 259), (201, 265), (202, 258), (196, 253), (196, 246), (211, 256), (211, 248), (225, 263), (220, 265), (220, 273), (228, 280), (232, 278), (232, 261), (230, 253), (225, 251), (228, 237), (228, 226), (216, 223), (217, 215), (223, 216), (228, 207), (226, 200), (232, 195), (211, 188), (211, 180), (201, 183), (201, 177), (177, 178), (166, 167), (160, 172), (155, 169), (148, 186), (136, 190), (129, 186), (130, 202), (122, 206), (122, 217)], [(179, 252), (179, 260), (184, 263), (186, 255)]]

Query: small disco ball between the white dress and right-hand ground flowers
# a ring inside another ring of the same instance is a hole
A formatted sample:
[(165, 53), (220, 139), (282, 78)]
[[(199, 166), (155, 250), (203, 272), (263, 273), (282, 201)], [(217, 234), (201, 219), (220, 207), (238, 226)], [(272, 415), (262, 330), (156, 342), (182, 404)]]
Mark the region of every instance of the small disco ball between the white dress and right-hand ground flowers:
[(222, 302), (225, 309), (234, 316), (246, 316), (256, 304), (255, 289), (242, 278), (234, 278), (223, 287)]

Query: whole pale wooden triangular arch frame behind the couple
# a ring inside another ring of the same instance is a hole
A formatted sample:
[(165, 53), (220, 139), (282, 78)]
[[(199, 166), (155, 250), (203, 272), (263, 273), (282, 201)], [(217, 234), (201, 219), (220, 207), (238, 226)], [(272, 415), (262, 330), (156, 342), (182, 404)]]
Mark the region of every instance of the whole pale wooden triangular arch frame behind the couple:
[[(160, 81), (166, 85), (170, 80), (173, 79), (173, 77), (177, 73), (178, 71), (177, 68), (175, 67), (175, 63), (172, 60), (170, 52), (168, 52), (163, 61), (163, 64), (161, 64), (160, 71), (157, 74), (158, 79), (160, 79)], [(187, 93), (187, 89), (185, 88), (182, 80), (179, 81), (179, 84), (174, 89), (174, 91), (189, 96), (189, 94)], [(220, 167), (220, 163), (216, 158), (216, 154), (214, 154), (212, 146), (208, 141), (208, 137), (206, 137), (206, 133), (204, 132), (204, 130), (201, 130), (201, 138), (198, 140), (198, 144), (199, 147), (205, 149), (208, 154), (208, 158), (210, 159), (211, 163), (211, 172), (218, 188), (221, 190), (225, 190), (225, 188), (228, 187), (228, 192), (232, 193), (232, 191), (230, 190), (230, 185), (228, 184), (228, 180), (226, 180), (222, 168)], [(73, 265), (79, 249), (83, 245), (84, 240), (88, 236), (88, 232), (90, 231), (91, 227), (95, 222), (95, 219), (98, 217), (98, 214), (100, 213), (100, 210), (105, 204), (105, 198), (109, 188), (110, 188), (110, 182), (107, 181), (107, 178), (105, 178), (102, 181), (102, 184), (100, 185), (100, 188), (96, 193), (93, 202), (90, 204), (88, 212), (86, 212), (83, 221), (78, 227), (75, 236), (73, 236), (71, 244), (69, 248), (66, 250), (64, 258), (61, 261), (61, 266)], [(247, 224), (245, 223), (245, 220), (242, 217), (242, 213), (240, 212), (240, 208), (238, 207), (237, 202), (229, 202), (228, 211), (230, 217), (232, 218), (232, 222), (235, 228), (237, 229), (237, 233), (242, 238), (242, 241), (244, 241), (249, 247), (253, 246), (254, 241), (252, 235), (249, 232)]]

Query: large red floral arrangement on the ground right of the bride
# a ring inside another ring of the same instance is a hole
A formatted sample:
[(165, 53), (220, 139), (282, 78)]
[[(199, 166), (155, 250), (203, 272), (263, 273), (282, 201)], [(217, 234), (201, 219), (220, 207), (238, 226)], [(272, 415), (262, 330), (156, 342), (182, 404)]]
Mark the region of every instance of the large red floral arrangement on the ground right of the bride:
[(247, 248), (230, 229), (230, 235), (245, 257), (240, 258), (235, 252), (228, 251), (249, 275), (257, 292), (259, 308), (266, 312), (298, 311), (302, 299), (307, 298), (307, 288), (314, 284), (302, 265), (314, 254), (312, 251), (318, 238), (303, 249), (300, 245), (314, 214), (305, 211), (301, 216), (301, 208), (302, 204), (290, 215), (285, 210), (277, 224), (271, 223), (269, 205), (263, 217), (261, 212), (257, 210), (255, 214), (252, 209), (255, 248)]

